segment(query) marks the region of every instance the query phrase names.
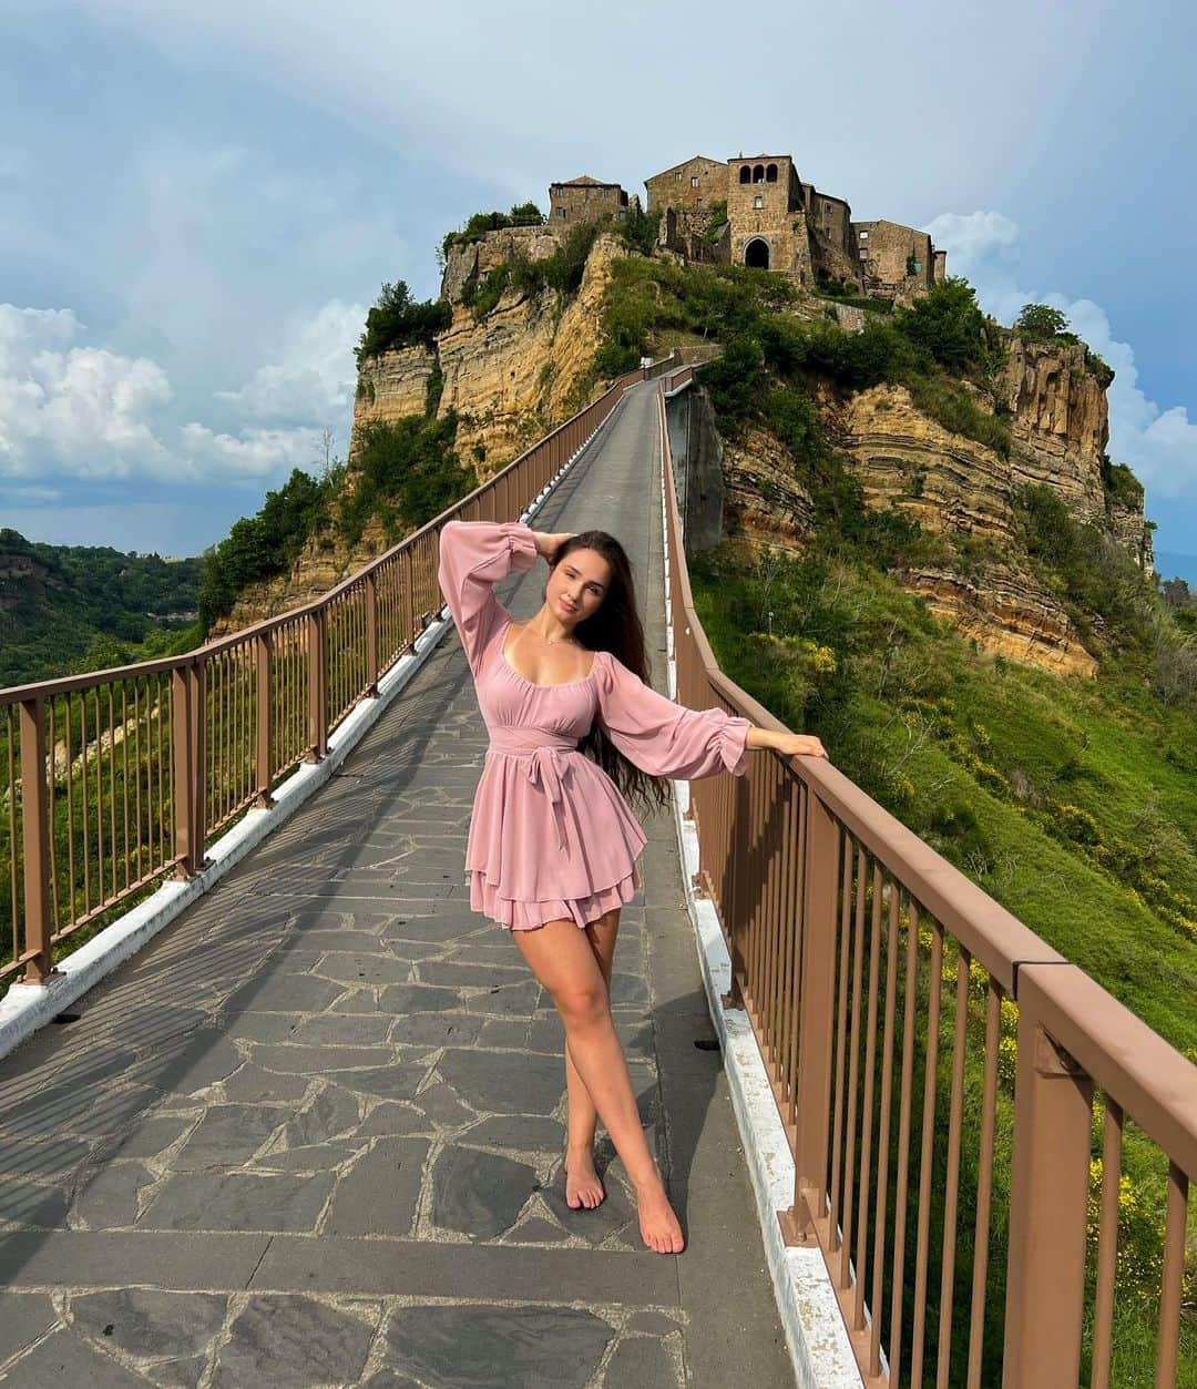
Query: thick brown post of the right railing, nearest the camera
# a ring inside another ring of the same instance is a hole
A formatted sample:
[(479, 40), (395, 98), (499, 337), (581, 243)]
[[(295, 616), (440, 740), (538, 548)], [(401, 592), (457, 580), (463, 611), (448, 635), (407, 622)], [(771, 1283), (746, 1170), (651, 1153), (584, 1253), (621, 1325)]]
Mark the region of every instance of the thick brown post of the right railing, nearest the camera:
[(1093, 1082), (1021, 1001), (1003, 1389), (1080, 1378), (1091, 1124)]

